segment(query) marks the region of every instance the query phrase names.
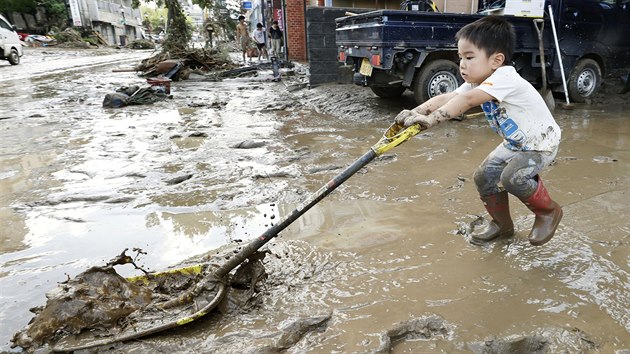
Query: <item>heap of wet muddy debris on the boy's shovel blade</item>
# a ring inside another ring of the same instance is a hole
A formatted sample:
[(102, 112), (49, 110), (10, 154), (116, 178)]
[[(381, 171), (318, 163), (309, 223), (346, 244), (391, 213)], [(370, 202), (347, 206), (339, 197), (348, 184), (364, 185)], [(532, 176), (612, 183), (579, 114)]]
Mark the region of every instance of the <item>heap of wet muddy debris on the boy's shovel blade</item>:
[[(14, 335), (13, 345), (27, 352), (72, 352), (125, 342), (191, 322), (225, 295), (210, 263), (149, 273), (125, 251), (49, 292), (46, 306), (34, 310), (35, 318)], [(123, 278), (113, 268), (129, 263), (144, 275)]]

